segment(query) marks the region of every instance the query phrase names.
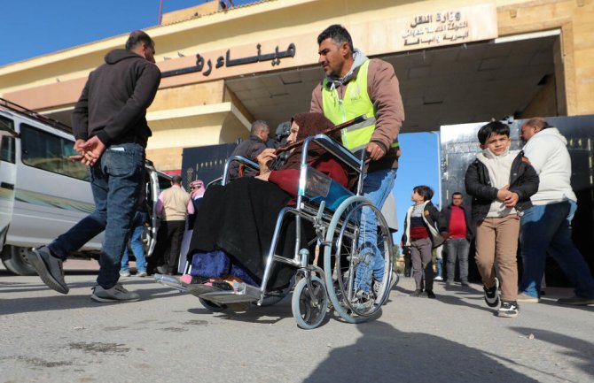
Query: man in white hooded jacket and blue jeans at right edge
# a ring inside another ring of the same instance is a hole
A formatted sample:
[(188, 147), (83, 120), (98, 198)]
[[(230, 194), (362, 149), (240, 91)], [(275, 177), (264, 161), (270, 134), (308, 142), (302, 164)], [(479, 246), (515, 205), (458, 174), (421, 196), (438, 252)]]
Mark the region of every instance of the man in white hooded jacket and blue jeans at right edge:
[(557, 261), (574, 286), (575, 295), (558, 303), (594, 304), (594, 280), (571, 239), (571, 221), (577, 198), (571, 188), (571, 158), (567, 140), (542, 118), (529, 119), (521, 127), (524, 153), (539, 174), (538, 192), (530, 197), (533, 206), (521, 218), (521, 255), (524, 271), (518, 301), (538, 303), (546, 253)]

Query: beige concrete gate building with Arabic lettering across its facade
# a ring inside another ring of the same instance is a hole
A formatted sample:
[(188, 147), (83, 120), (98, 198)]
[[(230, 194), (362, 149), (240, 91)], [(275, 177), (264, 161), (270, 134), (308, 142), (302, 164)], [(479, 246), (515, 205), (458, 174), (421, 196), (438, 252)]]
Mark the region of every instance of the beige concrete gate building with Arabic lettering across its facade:
[[(197, 1), (198, 3), (198, 1)], [(403, 132), (594, 113), (594, 0), (270, 0), (219, 2), (145, 29), (163, 73), (147, 114), (147, 156), (181, 167), (184, 147), (245, 138), (309, 110), (324, 73), (317, 34), (340, 23), (356, 48), (395, 66)], [(88, 73), (127, 34), (0, 67), (0, 96), (69, 123)]]

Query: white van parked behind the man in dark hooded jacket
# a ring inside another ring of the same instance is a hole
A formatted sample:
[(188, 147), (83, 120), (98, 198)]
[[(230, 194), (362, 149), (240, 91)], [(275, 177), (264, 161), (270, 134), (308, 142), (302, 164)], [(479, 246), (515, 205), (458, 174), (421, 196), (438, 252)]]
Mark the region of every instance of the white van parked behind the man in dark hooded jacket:
[[(72, 128), (0, 98), (0, 245), (6, 269), (35, 274), (28, 263), (32, 248), (44, 245), (74, 226), (95, 208), (89, 169), (68, 157)], [(157, 218), (151, 214), (170, 176), (146, 164), (150, 226), (145, 230), (147, 255), (156, 241)], [(151, 209), (152, 208), (152, 209)], [(98, 258), (103, 234), (73, 257)]]

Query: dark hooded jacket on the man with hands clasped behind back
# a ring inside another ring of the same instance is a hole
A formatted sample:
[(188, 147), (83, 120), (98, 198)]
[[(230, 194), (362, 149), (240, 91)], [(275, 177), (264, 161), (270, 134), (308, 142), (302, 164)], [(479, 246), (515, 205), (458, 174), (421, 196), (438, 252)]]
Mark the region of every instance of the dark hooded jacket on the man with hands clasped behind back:
[(146, 109), (160, 84), (160, 70), (128, 50), (112, 50), (106, 64), (90, 73), (74, 106), (74, 138), (97, 135), (106, 146), (137, 142), (146, 146), (151, 129)]

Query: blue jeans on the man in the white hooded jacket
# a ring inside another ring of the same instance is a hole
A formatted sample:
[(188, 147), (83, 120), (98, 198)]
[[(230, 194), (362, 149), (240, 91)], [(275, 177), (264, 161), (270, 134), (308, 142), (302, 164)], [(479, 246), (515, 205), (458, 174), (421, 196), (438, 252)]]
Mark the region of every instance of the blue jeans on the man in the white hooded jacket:
[(520, 239), (524, 272), (520, 293), (539, 296), (548, 251), (574, 285), (575, 295), (594, 298), (594, 279), (571, 239), (571, 220), (576, 210), (577, 203), (569, 200), (535, 205), (524, 211)]

